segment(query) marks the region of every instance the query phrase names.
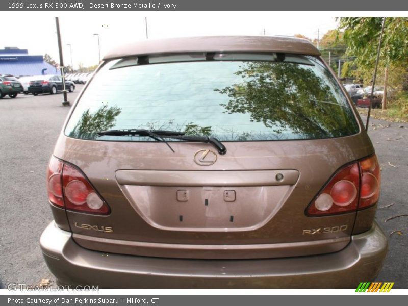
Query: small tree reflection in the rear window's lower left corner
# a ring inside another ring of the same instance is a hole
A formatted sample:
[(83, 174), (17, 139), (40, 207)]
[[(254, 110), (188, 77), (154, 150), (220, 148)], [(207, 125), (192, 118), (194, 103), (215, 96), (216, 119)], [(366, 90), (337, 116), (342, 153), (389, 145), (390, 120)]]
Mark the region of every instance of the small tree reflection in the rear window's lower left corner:
[(120, 113), (121, 109), (117, 106), (108, 108), (108, 105), (104, 105), (92, 114), (88, 109), (82, 114), (81, 119), (69, 133), (69, 136), (95, 139), (98, 132), (109, 130), (115, 125), (116, 117)]

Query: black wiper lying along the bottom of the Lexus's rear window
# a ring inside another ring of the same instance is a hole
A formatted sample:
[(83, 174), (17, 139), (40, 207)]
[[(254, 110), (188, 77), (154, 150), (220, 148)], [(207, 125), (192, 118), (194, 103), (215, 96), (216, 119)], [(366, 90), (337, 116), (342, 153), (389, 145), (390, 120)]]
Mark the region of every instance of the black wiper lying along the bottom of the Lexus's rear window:
[(190, 142), (211, 143), (217, 149), (219, 154), (226, 153), (226, 147), (216, 138), (207, 136), (187, 136), (183, 132), (165, 131), (165, 130), (108, 130), (97, 133), (99, 136), (149, 136), (155, 140), (162, 141), (174, 152), (172, 147), (164, 138), (180, 139)]

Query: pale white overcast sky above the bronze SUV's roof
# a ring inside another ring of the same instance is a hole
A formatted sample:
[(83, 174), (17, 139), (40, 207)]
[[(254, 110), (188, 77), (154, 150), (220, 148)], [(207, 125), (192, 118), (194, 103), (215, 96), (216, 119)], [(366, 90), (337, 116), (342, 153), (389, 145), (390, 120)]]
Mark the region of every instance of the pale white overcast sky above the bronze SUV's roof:
[[(348, 12), (347, 14), (350, 14)], [(360, 12), (361, 14), (361, 12)], [(0, 49), (28, 49), (31, 55), (45, 53), (59, 62), (55, 17), (59, 17), (65, 65), (78, 68), (98, 63), (110, 48), (146, 39), (209, 35), (289, 35), (311, 39), (335, 29), (341, 12), (8, 12)], [(71, 44), (69, 47), (67, 44)], [(72, 59), (71, 59), (72, 51)]]

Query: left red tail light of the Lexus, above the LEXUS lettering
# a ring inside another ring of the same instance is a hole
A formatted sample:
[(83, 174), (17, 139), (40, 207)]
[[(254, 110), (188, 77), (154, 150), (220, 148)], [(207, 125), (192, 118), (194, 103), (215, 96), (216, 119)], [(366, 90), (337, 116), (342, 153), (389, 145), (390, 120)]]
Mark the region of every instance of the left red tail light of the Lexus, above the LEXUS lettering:
[(52, 157), (48, 175), (49, 201), (67, 210), (91, 214), (109, 214), (107, 203), (92, 187), (86, 176), (73, 165)]

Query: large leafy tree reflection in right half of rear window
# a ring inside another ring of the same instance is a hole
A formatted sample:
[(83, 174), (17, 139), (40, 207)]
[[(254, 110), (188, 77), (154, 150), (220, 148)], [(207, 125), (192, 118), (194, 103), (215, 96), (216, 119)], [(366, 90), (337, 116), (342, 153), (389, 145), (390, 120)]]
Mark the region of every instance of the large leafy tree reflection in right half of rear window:
[(308, 138), (326, 138), (355, 132), (348, 110), (309, 67), (246, 62), (235, 74), (242, 83), (215, 89), (230, 97), (221, 104), (228, 114), (249, 113), (251, 121), (263, 122), (278, 134), (289, 129)]

